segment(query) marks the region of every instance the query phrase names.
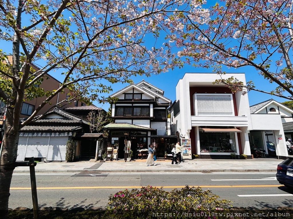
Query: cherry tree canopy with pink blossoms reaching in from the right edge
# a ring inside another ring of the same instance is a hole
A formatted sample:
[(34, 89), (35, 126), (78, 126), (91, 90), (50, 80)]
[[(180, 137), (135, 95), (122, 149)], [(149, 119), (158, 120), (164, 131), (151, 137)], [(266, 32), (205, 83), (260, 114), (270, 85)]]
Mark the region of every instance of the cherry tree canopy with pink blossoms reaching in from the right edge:
[(237, 76), (219, 77), (215, 83), (224, 83), (234, 92), (254, 90), (292, 100), (292, 1), (227, 0), (206, 13), (206, 20), (182, 16), (185, 27), (169, 36), (185, 63), (211, 67), (220, 76), (227, 68), (246, 67), (275, 88), (260, 90), (254, 81), (243, 84)]

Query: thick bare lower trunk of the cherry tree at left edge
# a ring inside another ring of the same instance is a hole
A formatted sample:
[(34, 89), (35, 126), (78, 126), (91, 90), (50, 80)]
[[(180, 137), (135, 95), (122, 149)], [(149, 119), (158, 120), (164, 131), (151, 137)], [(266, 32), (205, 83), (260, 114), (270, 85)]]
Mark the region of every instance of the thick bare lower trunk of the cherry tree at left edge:
[(13, 124), (13, 108), (7, 107), (4, 140), (0, 157), (0, 219), (7, 218), (10, 184), (15, 168), (19, 139), (18, 124)]

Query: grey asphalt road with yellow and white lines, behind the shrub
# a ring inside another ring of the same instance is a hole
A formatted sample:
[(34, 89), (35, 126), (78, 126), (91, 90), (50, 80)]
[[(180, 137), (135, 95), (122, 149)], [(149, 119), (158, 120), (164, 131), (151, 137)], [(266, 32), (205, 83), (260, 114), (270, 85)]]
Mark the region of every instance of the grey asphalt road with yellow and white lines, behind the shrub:
[[(210, 189), (233, 206), (292, 206), (292, 191), (275, 173), (37, 173), (39, 206), (105, 207), (110, 194), (152, 185), (165, 190), (185, 185)], [(32, 208), (29, 174), (13, 174), (9, 208)]]

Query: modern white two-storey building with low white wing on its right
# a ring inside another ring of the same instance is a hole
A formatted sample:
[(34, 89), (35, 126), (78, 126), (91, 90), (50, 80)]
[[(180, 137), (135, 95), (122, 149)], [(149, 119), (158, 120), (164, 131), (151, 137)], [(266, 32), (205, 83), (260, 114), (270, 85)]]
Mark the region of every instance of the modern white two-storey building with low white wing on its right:
[[(246, 84), (244, 73), (222, 77), (232, 76)], [(192, 154), (200, 158), (228, 158), (231, 153), (251, 158), (255, 151), (262, 152), (257, 156), (268, 156), (265, 136), (271, 133), (276, 155), (288, 157), (280, 114), (251, 114), (247, 94), (213, 84), (218, 78), (215, 73), (186, 73), (178, 81), (176, 103), (171, 106), (171, 134), (190, 138)], [(253, 145), (250, 138), (259, 138), (259, 144)]]

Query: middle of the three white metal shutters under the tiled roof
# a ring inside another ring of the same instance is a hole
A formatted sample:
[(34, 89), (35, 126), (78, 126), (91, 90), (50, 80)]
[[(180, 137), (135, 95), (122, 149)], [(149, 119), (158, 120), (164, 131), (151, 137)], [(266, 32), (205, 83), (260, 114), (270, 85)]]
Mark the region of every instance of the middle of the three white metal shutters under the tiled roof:
[(25, 157), (47, 157), (49, 137), (28, 137)]

